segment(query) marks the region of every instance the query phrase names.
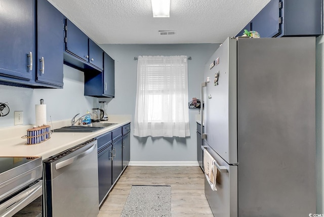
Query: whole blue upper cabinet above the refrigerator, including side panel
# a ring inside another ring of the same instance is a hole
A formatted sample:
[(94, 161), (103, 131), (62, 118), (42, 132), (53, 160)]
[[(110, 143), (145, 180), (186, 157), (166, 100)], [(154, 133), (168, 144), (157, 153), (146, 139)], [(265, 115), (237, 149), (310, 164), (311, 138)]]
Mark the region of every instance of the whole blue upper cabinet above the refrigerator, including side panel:
[(322, 34), (322, 0), (271, 0), (249, 23), (261, 37), (318, 36)]

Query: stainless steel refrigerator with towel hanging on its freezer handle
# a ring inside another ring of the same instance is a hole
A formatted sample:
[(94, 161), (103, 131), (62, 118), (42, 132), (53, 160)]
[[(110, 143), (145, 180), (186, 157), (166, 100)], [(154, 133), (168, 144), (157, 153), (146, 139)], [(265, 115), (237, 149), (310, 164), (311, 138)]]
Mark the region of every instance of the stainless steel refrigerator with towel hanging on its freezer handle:
[(315, 38), (227, 38), (204, 77), (214, 216), (316, 213)]

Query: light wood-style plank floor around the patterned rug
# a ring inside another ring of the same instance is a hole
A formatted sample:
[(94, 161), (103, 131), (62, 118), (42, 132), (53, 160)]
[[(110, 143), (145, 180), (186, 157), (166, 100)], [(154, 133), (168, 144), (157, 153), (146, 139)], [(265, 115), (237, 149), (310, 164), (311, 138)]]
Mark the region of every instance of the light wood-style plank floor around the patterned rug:
[(100, 208), (98, 217), (119, 217), (132, 185), (170, 185), (173, 217), (213, 217), (199, 166), (128, 166)]

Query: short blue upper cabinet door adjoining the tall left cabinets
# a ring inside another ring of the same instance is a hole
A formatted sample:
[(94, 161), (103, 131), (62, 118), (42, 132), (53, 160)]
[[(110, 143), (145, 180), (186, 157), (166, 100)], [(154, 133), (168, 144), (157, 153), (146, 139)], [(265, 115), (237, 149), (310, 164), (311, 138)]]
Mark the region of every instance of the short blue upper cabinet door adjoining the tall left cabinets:
[(74, 56), (88, 62), (88, 36), (77, 28), (70, 20), (66, 19), (66, 44), (65, 50)]

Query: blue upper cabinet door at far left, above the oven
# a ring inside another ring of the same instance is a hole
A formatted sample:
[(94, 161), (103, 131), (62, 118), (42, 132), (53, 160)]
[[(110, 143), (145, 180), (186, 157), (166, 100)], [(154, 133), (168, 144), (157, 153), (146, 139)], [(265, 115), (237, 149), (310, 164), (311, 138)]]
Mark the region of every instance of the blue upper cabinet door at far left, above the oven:
[(29, 80), (35, 71), (35, 1), (0, 1), (0, 75)]

